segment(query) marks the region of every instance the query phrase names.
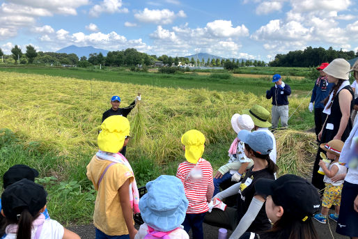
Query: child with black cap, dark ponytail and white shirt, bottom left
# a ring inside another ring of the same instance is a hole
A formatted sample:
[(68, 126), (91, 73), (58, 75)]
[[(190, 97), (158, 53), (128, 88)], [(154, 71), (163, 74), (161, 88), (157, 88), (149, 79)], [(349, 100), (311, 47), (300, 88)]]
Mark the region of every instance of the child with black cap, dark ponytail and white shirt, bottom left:
[(1, 195), (6, 218), (5, 239), (79, 239), (53, 219), (45, 220), (47, 192), (26, 178), (8, 186)]

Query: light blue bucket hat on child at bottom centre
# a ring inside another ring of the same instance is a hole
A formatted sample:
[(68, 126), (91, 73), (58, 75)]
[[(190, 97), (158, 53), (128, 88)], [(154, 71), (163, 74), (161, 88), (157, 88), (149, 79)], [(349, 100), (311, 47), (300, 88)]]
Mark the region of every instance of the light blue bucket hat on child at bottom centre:
[(162, 175), (146, 184), (148, 192), (139, 200), (143, 221), (157, 231), (172, 231), (184, 222), (189, 201), (175, 176)]

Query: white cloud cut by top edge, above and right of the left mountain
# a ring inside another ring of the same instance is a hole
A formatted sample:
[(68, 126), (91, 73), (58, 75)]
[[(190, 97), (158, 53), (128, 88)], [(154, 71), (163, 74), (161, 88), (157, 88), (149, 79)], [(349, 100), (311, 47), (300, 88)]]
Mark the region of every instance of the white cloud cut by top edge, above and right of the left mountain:
[(127, 8), (122, 8), (122, 0), (103, 0), (89, 10), (91, 17), (99, 17), (102, 13), (128, 13)]

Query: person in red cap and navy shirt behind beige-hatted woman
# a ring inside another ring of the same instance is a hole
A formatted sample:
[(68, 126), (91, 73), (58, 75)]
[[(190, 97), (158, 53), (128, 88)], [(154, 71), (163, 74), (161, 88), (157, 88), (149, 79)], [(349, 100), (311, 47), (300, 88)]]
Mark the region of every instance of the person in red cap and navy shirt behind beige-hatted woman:
[(325, 116), (322, 111), (325, 108), (323, 105), (323, 100), (327, 98), (329, 91), (334, 86), (333, 83), (328, 83), (327, 75), (323, 71), (329, 63), (322, 63), (318, 68), (316, 68), (320, 72), (320, 77), (317, 78), (316, 84), (313, 86), (311, 101), (309, 102), (309, 111), (313, 111), (313, 103), (314, 103), (314, 114), (315, 114), (315, 132), (316, 135), (320, 133), (322, 129), (323, 123), (325, 123)]

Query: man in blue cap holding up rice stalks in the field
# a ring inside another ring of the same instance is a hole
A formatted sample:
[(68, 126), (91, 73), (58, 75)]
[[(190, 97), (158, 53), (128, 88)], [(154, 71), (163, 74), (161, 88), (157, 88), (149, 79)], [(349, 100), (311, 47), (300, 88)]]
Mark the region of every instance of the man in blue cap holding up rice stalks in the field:
[[(114, 95), (111, 98), (111, 109), (105, 111), (102, 115), (102, 123), (103, 121), (108, 118), (109, 116), (123, 116), (127, 117), (128, 114), (130, 114), (130, 111), (136, 106), (137, 101), (141, 100), (141, 93), (138, 93), (137, 97), (134, 99), (134, 101), (127, 107), (120, 108), (120, 97), (118, 95)], [(123, 156), (125, 156), (127, 146), (124, 146), (122, 151), (120, 151)]]

